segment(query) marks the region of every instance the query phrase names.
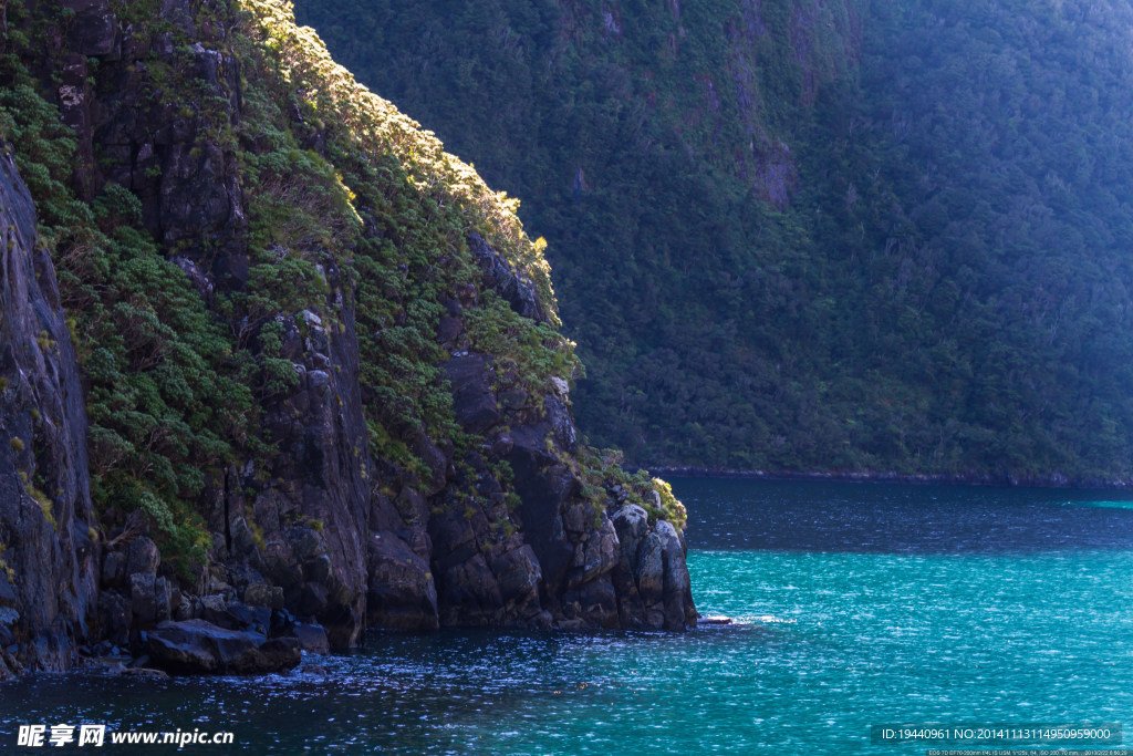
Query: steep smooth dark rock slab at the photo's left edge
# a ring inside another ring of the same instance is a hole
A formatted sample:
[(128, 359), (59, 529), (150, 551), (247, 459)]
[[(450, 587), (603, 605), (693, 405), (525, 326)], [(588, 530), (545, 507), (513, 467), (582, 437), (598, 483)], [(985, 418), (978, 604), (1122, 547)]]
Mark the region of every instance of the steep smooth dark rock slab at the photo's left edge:
[[(7, 150), (5, 152), (8, 152)], [(54, 267), (10, 155), (0, 156), (0, 648), (62, 669), (97, 601), (86, 409)], [(9, 576), (11, 581), (9, 581)], [(10, 671), (0, 659), (0, 678)]]

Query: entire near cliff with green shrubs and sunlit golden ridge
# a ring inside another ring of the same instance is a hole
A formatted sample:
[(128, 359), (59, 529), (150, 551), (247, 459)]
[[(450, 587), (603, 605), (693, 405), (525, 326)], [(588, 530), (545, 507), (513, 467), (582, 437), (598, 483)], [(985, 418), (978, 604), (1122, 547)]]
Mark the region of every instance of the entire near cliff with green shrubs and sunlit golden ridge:
[(165, 621), (695, 622), (683, 509), (573, 424), (542, 240), (287, 3), (3, 24), (0, 674)]

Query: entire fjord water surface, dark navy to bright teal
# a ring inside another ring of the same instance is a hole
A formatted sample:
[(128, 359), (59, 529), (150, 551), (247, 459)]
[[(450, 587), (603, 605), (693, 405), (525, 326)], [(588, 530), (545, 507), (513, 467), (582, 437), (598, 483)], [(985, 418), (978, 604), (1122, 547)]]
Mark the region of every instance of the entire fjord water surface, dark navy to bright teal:
[(1125, 722), (1133, 739), (1121, 495), (672, 483), (697, 605), (736, 625), (373, 635), (316, 660), (325, 677), (37, 676), (0, 686), (0, 751), (57, 722), (232, 730), (248, 753), (900, 756), (925, 746), (869, 727), (930, 722)]

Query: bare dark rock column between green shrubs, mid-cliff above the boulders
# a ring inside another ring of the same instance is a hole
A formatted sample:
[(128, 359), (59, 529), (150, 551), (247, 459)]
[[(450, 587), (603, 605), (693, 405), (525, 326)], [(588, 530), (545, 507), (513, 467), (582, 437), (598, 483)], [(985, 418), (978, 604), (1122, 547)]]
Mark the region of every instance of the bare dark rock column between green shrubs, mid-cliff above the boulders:
[[(292, 357), (304, 380), (265, 411), (280, 453), (267, 470), (230, 472), (210, 516), (214, 529), (231, 534), (229, 561), (244, 564), (225, 581), (239, 589), (246, 580), (281, 587), (284, 605), (326, 627), (337, 648), (355, 645), (363, 628), (370, 521), (394, 519), (389, 512), (372, 517), (372, 464), (356, 453), (366, 448), (366, 424), (350, 311), (346, 320), (346, 333), (330, 339), (317, 316), (307, 318), (306, 342)], [(249, 501), (239, 489), (256, 494)], [(253, 524), (263, 530), (263, 547), (248, 537)]]

